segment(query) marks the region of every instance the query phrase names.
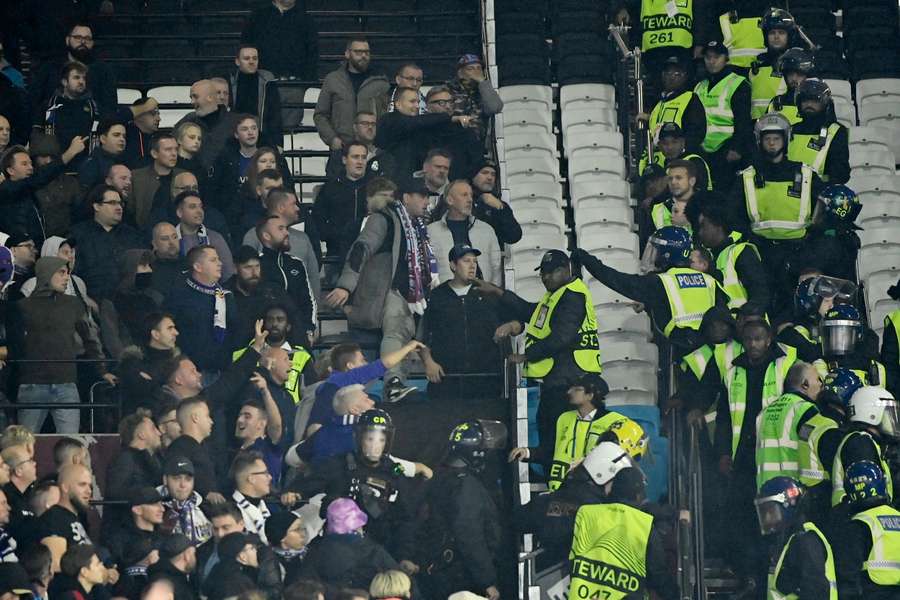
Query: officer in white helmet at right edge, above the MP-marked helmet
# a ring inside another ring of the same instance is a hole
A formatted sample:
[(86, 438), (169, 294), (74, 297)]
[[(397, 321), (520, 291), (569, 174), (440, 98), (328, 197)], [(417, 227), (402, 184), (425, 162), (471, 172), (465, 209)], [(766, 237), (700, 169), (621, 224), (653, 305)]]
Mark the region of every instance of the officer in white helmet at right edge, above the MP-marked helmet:
[(826, 468), (831, 465), (831, 506), (843, 504), (842, 508), (847, 508), (844, 502), (845, 465), (861, 460), (869, 460), (881, 466), (888, 480), (888, 498), (893, 498), (891, 469), (885, 459), (885, 451), (888, 444), (895, 444), (900, 439), (897, 401), (882, 387), (863, 386), (850, 398), (847, 412), (850, 415), (849, 423), (837, 446), (819, 444), (822, 464)]

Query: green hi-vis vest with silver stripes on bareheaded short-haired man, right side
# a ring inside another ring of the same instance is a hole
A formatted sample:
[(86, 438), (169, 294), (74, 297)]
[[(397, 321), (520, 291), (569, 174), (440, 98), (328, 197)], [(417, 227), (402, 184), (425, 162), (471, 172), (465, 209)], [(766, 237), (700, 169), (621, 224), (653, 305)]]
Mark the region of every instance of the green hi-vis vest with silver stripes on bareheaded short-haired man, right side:
[(756, 425), (756, 488), (773, 477), (800, 476), (800, 418), (815, 404), (790, 392), (759, 413)]

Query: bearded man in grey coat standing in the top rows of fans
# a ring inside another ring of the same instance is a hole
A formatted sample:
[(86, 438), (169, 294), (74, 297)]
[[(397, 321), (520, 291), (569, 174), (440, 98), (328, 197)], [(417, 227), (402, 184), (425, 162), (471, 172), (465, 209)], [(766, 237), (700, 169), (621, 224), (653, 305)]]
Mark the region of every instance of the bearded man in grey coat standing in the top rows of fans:
[(387, 110), (390, 83), (384, 75), (369, 72), (371, 50), (363, 38), (352, 38), (344, 51), (347, 60), (325, 76), (313, 121), (319, 137), (332, 150), (353, 139), (353, 122), (360, 111), (376, 117)]

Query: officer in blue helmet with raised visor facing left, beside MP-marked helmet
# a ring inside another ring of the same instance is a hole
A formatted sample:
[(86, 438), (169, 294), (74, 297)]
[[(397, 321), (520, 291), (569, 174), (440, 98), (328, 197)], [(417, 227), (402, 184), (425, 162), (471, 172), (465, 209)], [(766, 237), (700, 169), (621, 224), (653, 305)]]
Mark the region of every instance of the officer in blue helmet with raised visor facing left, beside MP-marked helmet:
[(779, 476), (766, 482), (756, 498), (760, 531), (775, 550), (768, 597), (837, 600), (834, 552), (825, 533), (806, 520), (805, 496), (795, 479)]

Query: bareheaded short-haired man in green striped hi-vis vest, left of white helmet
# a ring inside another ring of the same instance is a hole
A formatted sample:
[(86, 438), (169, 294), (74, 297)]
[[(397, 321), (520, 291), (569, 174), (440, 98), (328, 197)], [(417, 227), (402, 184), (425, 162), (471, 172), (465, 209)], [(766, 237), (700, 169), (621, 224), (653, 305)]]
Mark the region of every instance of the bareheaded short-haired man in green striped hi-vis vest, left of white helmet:
[(800, 479), (810, 470), (810, 454), (801, 452), (801, 430), (819, 414), (815, 402), (822, 390), (816, 368), (795, 362), (784, 382), (785, 393), (763, 408), (756, 424), (756, 487), (775, 477)]

